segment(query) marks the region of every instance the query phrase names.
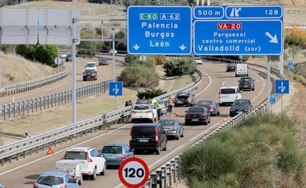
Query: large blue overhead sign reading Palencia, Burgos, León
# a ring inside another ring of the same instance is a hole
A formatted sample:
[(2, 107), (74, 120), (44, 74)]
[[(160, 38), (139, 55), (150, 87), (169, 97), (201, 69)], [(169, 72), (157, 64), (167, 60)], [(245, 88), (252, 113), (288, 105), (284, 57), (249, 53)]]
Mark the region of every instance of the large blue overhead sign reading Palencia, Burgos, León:
[(191, 7), (129, 6), (128, 53), (189, 55)]

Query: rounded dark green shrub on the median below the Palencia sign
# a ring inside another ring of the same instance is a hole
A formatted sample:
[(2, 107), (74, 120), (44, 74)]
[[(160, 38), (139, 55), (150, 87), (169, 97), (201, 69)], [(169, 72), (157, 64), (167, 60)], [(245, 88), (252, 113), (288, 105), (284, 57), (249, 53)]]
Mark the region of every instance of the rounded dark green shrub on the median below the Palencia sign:
[(163, 64), (167, 76), (182, 76), (193, 74), (196, 70), (196, 63), (191, 58), (179, 58), (166, 60)]

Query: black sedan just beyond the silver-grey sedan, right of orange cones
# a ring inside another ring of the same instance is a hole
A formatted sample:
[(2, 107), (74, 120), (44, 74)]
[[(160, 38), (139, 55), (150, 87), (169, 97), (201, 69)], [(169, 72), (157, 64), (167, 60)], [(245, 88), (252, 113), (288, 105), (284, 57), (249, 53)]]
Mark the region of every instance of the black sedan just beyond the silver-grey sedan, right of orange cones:
[(191, 123), (201, 123), (208, 125), (210, 123), (210, 113), (204, 106), (193, 106), (186, 111), (185, 125)]

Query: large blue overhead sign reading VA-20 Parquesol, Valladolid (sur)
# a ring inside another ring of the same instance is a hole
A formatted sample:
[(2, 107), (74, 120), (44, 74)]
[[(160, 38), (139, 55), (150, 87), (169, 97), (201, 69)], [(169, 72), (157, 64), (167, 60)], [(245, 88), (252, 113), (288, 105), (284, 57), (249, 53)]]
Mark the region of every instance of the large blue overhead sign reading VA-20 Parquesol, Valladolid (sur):
[(280, 55), (283, 49), (280, 20), (197, 20), (196, 55)]

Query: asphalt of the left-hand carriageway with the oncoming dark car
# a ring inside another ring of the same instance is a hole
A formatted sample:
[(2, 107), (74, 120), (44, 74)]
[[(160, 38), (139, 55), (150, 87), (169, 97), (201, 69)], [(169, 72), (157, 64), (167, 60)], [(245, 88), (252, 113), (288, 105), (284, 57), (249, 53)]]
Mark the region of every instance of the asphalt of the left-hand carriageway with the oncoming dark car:
[[(85, 65), (87, 62), (96, 62), (96, 64), (98, 65), (98, 61), (92, 60), (92, 59), (84, 59), (84, 58), (77, 58), (77, 87), (79, 86), (84, 86), (84, 85), (88, 85), (88, 84), (94, 84), (94, 83), (99, 83), (101, 81), (104, 80), (108, 80), (113, 78), (113, 66), (111, 63), (109, 63), (109, 65), (101, 65), (101, 66), (97, 66), (98, 68), (98, 80), (97, 81), (85, 81), (83, 82), (83, 75), (82, 72), (85, 71)], [(65, 62), (65, 66), (66, 67), (71, 67), (72, 66), (72, 62)], [(116, 76), (120, 75), (121, 71), (123, 70), (122, 67), (120, 66), (116, 66)], [(29, 90), (26, 92), (22, 92), (22, 93), (16, 93), (13, 95), (6, 95), (4, 97), (0, 98), (0, 104), (6, 104), (6, 103), (10, 103), (13, 100), (14, 97), (14, 101), (20, 101), (20, 100), (24, 100), (24, 99), (28, 99), (28, 98), (33, 98), (33, 97), (38, 97), (38, 96), (42, 96), (42, 95), (46, 95), (46, 94), (51, 94), (51, 93), (55, 93), (55, 92), (59, 92), (59, 91), (64, 91), (67, 89), (71, 89), (72, 88), (72, 71), (70, 72), (70, 74), (65, 77), (64, 79), (54, 83), (54, 84), (50, 84), (50, 85), (45, 85), (43, 87), (37, 88), (37, 89), (33, 89), (33, 90)]]

